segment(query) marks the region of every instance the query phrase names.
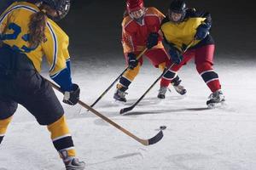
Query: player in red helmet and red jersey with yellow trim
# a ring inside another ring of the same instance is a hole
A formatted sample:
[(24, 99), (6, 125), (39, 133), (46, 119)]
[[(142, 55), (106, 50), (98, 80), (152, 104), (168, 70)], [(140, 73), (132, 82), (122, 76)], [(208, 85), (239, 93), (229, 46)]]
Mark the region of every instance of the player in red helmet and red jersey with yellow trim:
[[(137, 76), (143, 58), (136, 59), (144, 48), (148, 51), (144, 54), (155, 67), (162, 71), (170, 65), (170, 59), (159, 36), (160, 23), (164, 14), (156, 8), (145, 8), (143, 0), (127, 0), (125, 17), (122, 22), (122, 44), (125, 60), (129, 68), (120, 77), (114, 99), (125, 102), (125, 91)], [(181, 80), (175, 71), (168, 71), (160, 81), (158, 98), (165, 99), (166, 89), (172, 81), (178, 94), (185, 94), (186, 89), (180, 84)]]

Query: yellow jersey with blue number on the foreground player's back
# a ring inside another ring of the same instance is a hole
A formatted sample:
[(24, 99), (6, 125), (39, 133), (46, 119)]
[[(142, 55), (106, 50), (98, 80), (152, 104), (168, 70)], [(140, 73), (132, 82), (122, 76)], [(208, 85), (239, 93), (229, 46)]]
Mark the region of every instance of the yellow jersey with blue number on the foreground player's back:
[(32, 3), (13, 3), (0, 16), (0, 33), (2, 41), (26, 54), (32, 60), (37, 71), (41, 70), (41, 62), (45, 56), (50, 65), (49, 75), (54, 77), (67, 67), (68, 36), (53, 20), (47, 19), (46, 41), (39, 44), (37, 48), (29, 48), (28, 26), (31, 15), (38, 11), (38, 7)]

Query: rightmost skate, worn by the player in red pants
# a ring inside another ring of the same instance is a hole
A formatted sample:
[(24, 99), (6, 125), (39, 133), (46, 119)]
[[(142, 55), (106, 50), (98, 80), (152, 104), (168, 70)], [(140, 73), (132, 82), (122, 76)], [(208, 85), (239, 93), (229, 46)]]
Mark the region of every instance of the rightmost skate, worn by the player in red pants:
[(207, 100), (207, 106), (208, 108), (212, 109), (222, 105), (224, 101), (224, 94), (221, 90), (217, 90), (209, 96), (209, 100)]

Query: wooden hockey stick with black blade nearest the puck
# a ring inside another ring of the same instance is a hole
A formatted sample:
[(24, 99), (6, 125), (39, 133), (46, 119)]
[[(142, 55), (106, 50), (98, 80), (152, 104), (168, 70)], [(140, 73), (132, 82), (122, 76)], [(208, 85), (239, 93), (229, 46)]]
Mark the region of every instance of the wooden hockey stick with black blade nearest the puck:
[[(47, 79), (45, 79), (47, 80)], [(49, 80), (47, 80), (53, 88), (55, 88), (56, 90), (58, 90), (59, 92), (61, 92), (61, 88), (59, 88), (57, 85), (55, 85), (55, 83), (50, 82)], [(61, 92), (62, 93), (62, 92)], [(113, 127), (118, 128), (120, 131), (122, 131), (123, 133), (127, 134), (128, 136), (130, 136), (132, 139), (137, 140), (139, 143), (143, 144), (143, 145), (150, 145), (150, 144), (155, 144), (157, 142), (160, 141), (160, 139), (162, 139), (164, 137), (164, 133), (162, 132), (162, 130), (160, 130), (159, 133), (157, 133), (156, 135), (154, 135), (153, 138), (151, 139), (140, 139), (137, 136), (135, 136), (133, 133), (129, 132), (128, 130), (126, 130), (124, 127), (119, 126), (117, 123), (113, 122), (112, 120), (110, 120), (108, 117), (103, 116), (100, 112), (96, 111), (95, 109), (93, 109), (92, 107), (90, 107), (89, 105), (86, 105), (83, 101), (79, 100), (79, 105), (82, 105), (84, 108), (86, 108), (87, 110), (91, 111), (92, 113), (94, 113), (96, 116), (101, 117), (104, 121), (110, 123), (111, 125), (113, 125)]]

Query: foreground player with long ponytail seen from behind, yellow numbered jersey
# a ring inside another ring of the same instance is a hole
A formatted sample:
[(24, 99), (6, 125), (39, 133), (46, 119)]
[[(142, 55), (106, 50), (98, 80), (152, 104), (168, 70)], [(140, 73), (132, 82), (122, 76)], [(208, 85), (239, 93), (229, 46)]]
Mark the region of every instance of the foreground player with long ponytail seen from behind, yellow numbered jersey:
[(85, 163), (76, 157), (61, 103), (38, 73), (45, 56), (49, 76), (64, 92), (63, 102), (78, 103), (80, 90), (71, 79), (68, 37), (53, 21), (67, 15), (70, 0), (30, 2), (13, 3), (0, 16), (0, 143), (20, 104), (48, 127), (66, 169), (83, 170)]

